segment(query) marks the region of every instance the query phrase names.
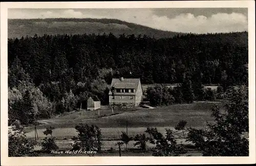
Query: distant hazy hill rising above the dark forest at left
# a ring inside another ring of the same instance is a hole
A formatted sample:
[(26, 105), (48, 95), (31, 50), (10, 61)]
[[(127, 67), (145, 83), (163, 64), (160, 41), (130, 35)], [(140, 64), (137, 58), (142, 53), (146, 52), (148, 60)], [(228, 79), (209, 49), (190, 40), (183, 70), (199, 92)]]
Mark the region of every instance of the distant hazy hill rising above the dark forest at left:
[(47, 19), (9, 19), (8, 38), (21, 38), (22, 36), (42, 36), (44, 34), (109, 34), (115, 36), (147, 35), (155, 38), (169, 38), (176, 32), (161, 31), (151, 27), (129, 23), (117, 19), (92, 18), (47, 18)]

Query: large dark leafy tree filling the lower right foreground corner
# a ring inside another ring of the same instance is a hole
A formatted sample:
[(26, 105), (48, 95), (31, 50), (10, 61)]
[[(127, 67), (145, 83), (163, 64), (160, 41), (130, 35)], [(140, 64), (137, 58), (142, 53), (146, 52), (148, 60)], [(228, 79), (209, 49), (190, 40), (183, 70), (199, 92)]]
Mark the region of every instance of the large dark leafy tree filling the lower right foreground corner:
[(187, 141), (195, 143), (203, 156), (248, 156), (248, 98), (244, 90), (233, 90), (225, 105), (225, 113), (218, 106), (211, 109), (215, 123), (208, 129), (189, 129)]

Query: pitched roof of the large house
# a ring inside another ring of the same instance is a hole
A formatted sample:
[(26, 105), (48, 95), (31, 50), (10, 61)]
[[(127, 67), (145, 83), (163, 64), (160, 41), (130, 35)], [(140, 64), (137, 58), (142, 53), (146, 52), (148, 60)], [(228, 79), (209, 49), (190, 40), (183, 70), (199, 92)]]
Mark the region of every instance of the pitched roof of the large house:
[(139, 82), (140, 82), (140, 78), (123, 78), (123, 80), (121, 81), (119, 78), (113, 78), (112, 82), (111, 82), (111, 86), (110, 86), (110, 92), (109, 95), (112, 94), (111, 92), (111, 88), (129, 88), (129, 89), (135, 89), (135, 92), (138, 89), (139, 86)]

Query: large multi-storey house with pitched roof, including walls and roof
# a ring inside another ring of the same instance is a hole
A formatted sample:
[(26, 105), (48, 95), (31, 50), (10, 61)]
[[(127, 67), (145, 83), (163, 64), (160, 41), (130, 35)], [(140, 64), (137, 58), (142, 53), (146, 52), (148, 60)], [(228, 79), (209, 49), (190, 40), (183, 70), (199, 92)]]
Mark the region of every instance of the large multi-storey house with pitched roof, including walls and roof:
[(109, 92), (109, 103), (138, 106), (143, 91), (139, 78), (113, 78)]

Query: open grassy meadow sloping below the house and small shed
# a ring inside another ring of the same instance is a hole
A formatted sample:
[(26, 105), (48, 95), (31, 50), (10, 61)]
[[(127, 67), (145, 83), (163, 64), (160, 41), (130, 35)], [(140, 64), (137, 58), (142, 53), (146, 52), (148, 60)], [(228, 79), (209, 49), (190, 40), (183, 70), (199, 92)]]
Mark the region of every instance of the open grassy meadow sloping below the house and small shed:
[[(42, 133), (47, 126), (53, 126), (53, 136), (57, 139), (71, 139), (77, 134), (75, 126), (79, 123), (94, 124), (100, 127), (103, 140), (116, 140), (119, 139), (121, 131), (126, 131), (126, 120), (128, 121), (129, 135), (136, 135), (145, 131), (146, 126), (157, 127), (162, 133), (165, 128), (174, 128), (180, 120), (187, 121), (187, 127), (204, 128), (207, 122), (212, 122), (210, 116), (211, 106), (213, 102), (195, 102), (191, 104), (176, 104), (164, 107), (157, 107), (154, 109), (140, 108), (138, 110), (127, 110), (127, 112), (118, 115), (92, 118), (88, 119), (86, 116), (79, 116), (79, 112), (75, 112), (66, 116), (56, 117), (53, 119), (45, 120), (45, 124), (38, 126), (39, 139), (45, 137)], [(222, 105), (222, 103), (216, 103)], [(102, 108), (103, 109), (103, 108)], [(101, 110), (103, 112), (103, 110)], [(93, 115), (96, 111), (88, 113)], [(112, 112), (112, 111), (111, 111)], [(29, 139), (34, 139), (33, 127), (27, 127), (27, 136)], [(175, 133), (176, 137), (180, 137), (180, 131)]]

